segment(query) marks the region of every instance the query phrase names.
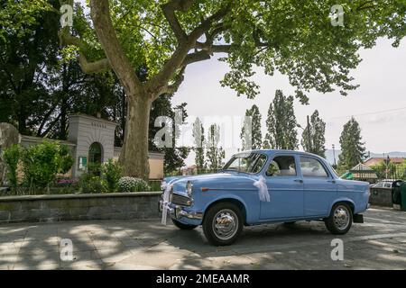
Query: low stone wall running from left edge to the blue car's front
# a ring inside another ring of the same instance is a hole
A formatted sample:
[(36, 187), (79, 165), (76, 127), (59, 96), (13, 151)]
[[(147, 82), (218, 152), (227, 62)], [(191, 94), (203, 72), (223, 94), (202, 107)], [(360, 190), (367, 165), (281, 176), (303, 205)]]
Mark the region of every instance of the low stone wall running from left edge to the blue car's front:
[(160, 192), (0, 197), (0, 223), (159, 217)]

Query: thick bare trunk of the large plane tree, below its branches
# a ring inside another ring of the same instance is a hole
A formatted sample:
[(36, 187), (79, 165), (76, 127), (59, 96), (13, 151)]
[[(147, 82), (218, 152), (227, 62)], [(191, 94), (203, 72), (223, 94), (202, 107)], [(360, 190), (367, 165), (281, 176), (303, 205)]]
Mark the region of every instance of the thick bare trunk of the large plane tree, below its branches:
[(128, 95), (125, 140), (120, 154), (120, 163), (126, 176), (148, 180), (148, 126), (151, 98), (146, 95)]

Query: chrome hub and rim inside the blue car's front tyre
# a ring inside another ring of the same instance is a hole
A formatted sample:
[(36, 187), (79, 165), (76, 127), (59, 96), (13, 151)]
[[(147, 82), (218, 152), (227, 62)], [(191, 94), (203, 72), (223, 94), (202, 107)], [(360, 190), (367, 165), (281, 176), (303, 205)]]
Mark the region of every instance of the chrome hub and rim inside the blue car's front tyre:
[(218, 211), (213, 219), (213, 231), (217, 238), (227, 240), (233, 238), (238, 229), (238, 217), (229, 209)]

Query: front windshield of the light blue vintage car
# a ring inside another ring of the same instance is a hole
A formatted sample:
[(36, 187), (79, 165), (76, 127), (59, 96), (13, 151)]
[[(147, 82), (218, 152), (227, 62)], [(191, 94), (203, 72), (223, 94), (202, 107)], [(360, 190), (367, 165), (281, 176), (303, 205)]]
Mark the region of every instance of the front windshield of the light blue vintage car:
[(266, 162), (266, 156), (260, 153), (240, 153), (233, 156), (223, 170), (243, 173), (258, 173)]

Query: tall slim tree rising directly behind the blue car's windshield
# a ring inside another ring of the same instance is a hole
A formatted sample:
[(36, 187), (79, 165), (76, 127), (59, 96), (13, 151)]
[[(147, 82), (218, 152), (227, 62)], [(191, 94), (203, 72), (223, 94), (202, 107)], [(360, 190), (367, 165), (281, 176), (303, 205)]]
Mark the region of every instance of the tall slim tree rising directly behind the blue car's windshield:
[(263, 146), (263, 133), (261, 132), (261, 113), (257, 105), (253, 105), (251, 109), (247, 109), (245, 112), (245, 117), (251, 117), (252, 127), (251, 127), (251, 148), (248, 148), (245, 139), (245, 125), (241, 130), (241, 139), (243, 139), (243, 150), (247, 149), (260, 149)]

